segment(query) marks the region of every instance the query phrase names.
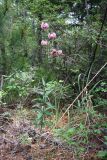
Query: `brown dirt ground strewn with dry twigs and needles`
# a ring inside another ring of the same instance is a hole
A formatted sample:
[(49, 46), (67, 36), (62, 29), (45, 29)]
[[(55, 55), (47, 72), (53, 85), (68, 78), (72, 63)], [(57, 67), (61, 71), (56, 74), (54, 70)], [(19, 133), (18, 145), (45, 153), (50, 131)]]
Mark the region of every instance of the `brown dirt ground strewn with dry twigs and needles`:
[(0, 160), (99, 160), (96, 152), (101, 144), (97, 139), (92, 141), (98, 148), (77, 158), (75, 150), (54, 138), (49, 130), (35, 128), (29, 115), (10, 112), (11, 117), (0, 120)]

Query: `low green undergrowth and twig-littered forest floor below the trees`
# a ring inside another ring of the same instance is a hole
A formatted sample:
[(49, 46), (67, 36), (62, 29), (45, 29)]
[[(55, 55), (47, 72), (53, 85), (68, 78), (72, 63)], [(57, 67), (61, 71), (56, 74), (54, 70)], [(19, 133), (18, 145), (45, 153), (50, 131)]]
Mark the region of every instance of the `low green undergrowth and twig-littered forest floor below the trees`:
[[(42, 78), (35, 88), (33, 73), (30, 79), (27, 72), (6, 77), (1, 92), (1, 159), (106, 159), (107, 112), (93, 105), (96, 85), (87, 90), (92, 80), (69, 104), (69, 86), (61, 80), (46, 83)], [(106, 83), (101, 85), (96, 93), (105, 91)]]

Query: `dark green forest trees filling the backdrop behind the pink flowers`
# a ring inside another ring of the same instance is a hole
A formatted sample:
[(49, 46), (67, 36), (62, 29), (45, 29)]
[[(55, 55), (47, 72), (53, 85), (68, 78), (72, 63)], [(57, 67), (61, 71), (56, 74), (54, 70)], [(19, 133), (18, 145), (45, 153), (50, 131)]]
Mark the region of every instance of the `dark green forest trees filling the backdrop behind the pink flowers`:
[[(34, 66), (41, 68), (41, 77), (62, 79), (72, 83), (75, 90), (81, 74), (83, 88), (107, 59), (106, 6), (106, 1), (100, 0), (2, 0), (1, 76)], [(42, 22), (49, 24), (46, 32), (41, 29)], [(55, 32), (57, 38), (42, 46), (41, 41), (49, 41), (51, 32)], [(64, 56), (50, 57), (52, 49), (62, 50)], [(98, 80), (106, 79), (106, 75), (105, 70)]]

